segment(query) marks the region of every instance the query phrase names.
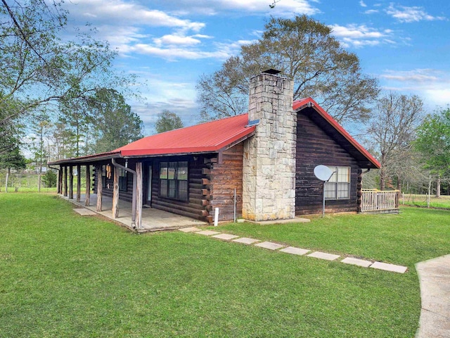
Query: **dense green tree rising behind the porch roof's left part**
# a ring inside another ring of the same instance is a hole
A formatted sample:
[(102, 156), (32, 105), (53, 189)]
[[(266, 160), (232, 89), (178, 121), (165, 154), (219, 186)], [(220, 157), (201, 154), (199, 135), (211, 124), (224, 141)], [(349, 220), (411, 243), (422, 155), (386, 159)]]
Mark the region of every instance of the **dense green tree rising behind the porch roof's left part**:
[(141, 118), (131, 111), (124, 96), (115, 89), (99, 89), (90, 105), (94, 111), (94, 129), (98, 132), (96, 153), (120, 148), (143, 137)]

